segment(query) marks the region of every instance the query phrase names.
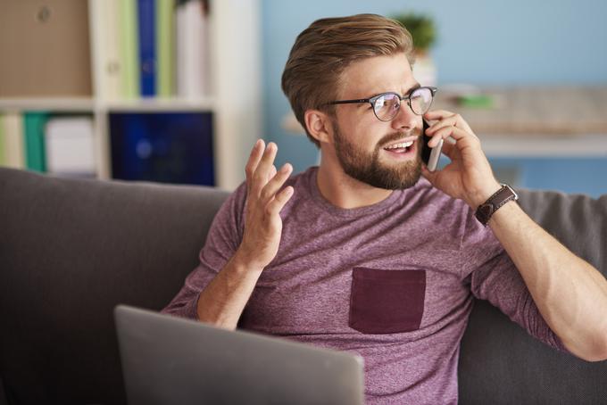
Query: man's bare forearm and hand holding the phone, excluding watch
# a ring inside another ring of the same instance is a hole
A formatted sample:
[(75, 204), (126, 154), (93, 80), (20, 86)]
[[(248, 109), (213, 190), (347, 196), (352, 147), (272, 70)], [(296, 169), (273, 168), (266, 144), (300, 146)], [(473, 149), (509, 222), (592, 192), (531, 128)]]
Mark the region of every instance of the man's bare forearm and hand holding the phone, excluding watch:
[[(447, 138), (445, 169), (423, 174), (437, 188), (473, 210), (500, 187), (468, 124), (451, 112), (428, 112), (438, 120), (428, 135)], [(430, 146), (437, 144), (432, 139)], [(588, 361), (607, 360), (607, 280), (539, 227), (515, 202), (489, 220), (497, 239), (519, 269), (542, 317), (565, 347)]]

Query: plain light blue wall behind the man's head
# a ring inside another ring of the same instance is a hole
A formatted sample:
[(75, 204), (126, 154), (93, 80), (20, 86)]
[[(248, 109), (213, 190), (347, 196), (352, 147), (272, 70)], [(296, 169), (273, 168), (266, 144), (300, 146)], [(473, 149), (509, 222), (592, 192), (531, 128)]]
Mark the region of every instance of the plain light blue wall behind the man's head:
[[(279, 145), (279, 165), (290, 161), (295, 171), (300, 171), (317, 159), (315, 146), (305, 136), (288, 134), (280, 127), (290, 110), (280, 90), (280, 76), (297, 34), (322, 17), (407, 11), (427, 12), (437, 22), (439, 38), (432, 54), (438, 67), (439, 86), (454, 82), (607, 85), (607, 2), (600, 0), (262, 0), (264, 124), (267, 139)], [(564, 165), (574, 177), (589, 168), (607, 172), (607, 159), (552, 163), (520, 160), (508, 164), (520, 166), (522, 186), (563, 191), (570, 190), (550, 181), (554, 170), (545, 170), (544, 181), (531, 173), (538, 172), (533, 165), (553, 164), (553, 168)], [(586, 186), (584, 180), (580, 181), (579, 192), (600, 194), (602, 188), (607, 193), (607, 181)]]

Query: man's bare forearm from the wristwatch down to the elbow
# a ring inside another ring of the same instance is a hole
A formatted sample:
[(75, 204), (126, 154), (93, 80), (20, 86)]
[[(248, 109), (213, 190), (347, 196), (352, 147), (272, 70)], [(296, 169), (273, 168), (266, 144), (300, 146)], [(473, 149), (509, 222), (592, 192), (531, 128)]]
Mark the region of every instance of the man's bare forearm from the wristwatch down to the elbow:
[(546, 323), (588, 361), (607, 360), (607, 280), (539, 227), (516, 203), (489, 226), (519, 269)]

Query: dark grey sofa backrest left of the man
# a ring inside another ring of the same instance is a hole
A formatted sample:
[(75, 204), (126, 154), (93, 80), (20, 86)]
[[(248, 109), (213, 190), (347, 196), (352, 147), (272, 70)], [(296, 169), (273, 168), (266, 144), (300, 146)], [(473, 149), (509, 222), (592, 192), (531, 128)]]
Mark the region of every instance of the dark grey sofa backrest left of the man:
[(9, 403), (125, 403), (112, 309), (170, 302), (226, 196), (0, 169), (0, 377)]

